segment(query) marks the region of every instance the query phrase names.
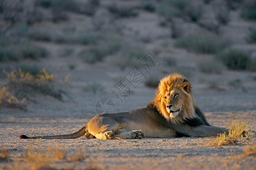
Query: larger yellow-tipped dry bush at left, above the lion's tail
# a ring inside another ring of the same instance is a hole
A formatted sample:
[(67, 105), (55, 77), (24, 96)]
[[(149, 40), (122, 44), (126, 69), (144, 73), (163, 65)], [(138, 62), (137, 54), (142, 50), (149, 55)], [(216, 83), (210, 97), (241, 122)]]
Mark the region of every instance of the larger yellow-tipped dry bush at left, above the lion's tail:
[(28, 97), (34, 92), (40, 92), (44, 95), (55, 97), (56, 99), (62, 100), (63, 95), (66, 95), (62, 90), (55, 90), (53, 86), (53, 80), (55, 75), (50, 74), (46, 69), (41, 70), (38, 74), (32, 75), (29, 72), (18, 69), (18, 71), (11, 71), (7, 73), (9, 80), (8, 87), (14, 90), (14, 94), (17, 97)]

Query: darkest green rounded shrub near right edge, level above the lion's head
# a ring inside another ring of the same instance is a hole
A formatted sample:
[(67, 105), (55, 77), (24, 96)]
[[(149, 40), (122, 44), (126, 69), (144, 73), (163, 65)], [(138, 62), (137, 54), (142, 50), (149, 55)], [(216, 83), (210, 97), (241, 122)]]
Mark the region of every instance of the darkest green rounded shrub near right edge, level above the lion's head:
[[(217, 58), (233, 70), (250, 70), (254, 62), (249, 53), (239, 49), (225, 49), (217, 54)], [(255, 65), (256, 66), (256, 65)]]

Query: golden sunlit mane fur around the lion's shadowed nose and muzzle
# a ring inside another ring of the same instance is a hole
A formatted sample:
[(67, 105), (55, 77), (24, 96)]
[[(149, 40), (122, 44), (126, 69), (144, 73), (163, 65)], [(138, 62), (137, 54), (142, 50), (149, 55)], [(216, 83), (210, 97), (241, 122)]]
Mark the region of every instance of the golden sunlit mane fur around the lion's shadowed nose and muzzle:
[[(180, 74), (170, 74), (160, 80), (158, 90), (156, 90), (155, 98), (147, 105), (148, 108), (156, 108), (159, 113), (163, 115), (168, 121), (176, 124), (181, 124), (185, 120), (195, 118), (195, 99), (191, 92), (191, 85), (184, 76)], [(180, 106), (180, 112), (177, 116), (170, 116), (166, 110), (168, 100), (164, 100), (166, 93), (171, 91), (179, 92), (179, 99), (177, 101), (177, 109)]]

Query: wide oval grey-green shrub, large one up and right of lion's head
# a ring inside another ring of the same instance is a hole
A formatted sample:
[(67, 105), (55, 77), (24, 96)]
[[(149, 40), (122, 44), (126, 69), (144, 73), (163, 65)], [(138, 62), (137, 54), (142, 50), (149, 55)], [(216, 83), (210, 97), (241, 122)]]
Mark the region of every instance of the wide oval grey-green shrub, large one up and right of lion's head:
[(194, 32), (176, 41), (177, 47), (208, 54), (219, 52), (228, 45), (227, 40), (206, 31)]

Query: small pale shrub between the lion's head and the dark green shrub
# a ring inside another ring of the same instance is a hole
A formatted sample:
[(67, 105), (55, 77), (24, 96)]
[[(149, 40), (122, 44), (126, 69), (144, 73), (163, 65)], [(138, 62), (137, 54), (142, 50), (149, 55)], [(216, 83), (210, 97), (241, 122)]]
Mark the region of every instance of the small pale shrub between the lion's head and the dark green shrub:
[(224, 66), (221, 62), (218, 62), (212, 58), (202, 58), (197, 61), (197, 66), (199, 70), (203, 73), (216, 73), (221, 74)]

